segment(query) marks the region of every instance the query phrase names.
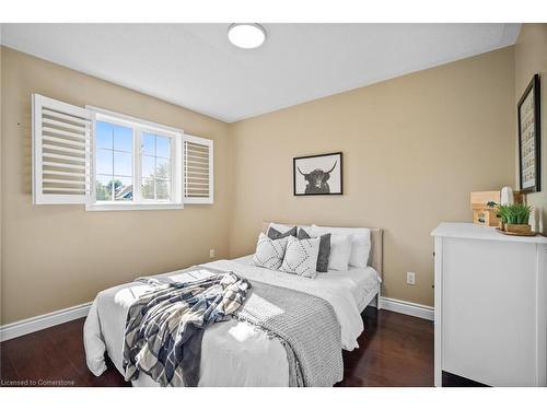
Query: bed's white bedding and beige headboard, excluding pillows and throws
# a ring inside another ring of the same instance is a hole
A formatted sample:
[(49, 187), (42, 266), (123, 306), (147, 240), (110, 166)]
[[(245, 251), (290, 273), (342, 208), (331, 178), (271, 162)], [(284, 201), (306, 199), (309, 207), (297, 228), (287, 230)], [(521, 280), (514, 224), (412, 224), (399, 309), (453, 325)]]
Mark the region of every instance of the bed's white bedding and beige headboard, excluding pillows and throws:
[[(269, 223), (264, 223), (263, 232)], [(217, 260), (202, 265), (206, 269), (231, 270), (249, 280), (305, 292), (327, 301), (334, 308), (341, 329), (342, 349), (359, 347), (363, 331), (360, 313), (380, 295), (382, 282), (382, 231), (371, 229), (371, 251), (366, 268), (319, 273), (314, 280), (256, 267), (253, 256)], [(201, 272), (198, 270), (198, 272)], [(186, 281), (188, 273), (175, 271), (159, 277)], [(125, 320), (129, 306), (149, 290), (140, 282), (125, 283), (100, 292), (84, 325), (86, 363), (96, 376), (106, 370), (105, 353), (124, 374), (123, 345)], [(265, 360), (267, 358), (267, 360)], [(207, 328), (201, 343), (198, 386), (288, 386), (289, 364), (280, 341), (245, 321), (216, 323)], [(133, 386), (158, 386), (140, 374)]]

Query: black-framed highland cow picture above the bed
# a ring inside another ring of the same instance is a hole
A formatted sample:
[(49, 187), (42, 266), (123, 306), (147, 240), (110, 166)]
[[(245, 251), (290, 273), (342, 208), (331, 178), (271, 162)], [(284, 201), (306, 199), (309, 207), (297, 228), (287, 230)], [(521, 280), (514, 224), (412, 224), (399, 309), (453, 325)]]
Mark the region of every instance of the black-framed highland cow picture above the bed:
[(341, 195), (342, 153), (299, 156), (292, 161), (294, 195)]

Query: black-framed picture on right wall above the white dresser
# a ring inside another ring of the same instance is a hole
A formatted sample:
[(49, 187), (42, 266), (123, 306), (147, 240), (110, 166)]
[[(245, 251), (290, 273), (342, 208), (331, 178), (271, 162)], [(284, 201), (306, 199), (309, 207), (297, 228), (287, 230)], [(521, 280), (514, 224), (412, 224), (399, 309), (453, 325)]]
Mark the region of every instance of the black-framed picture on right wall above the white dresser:
[(542, 190), (542, 125), (539, 75), (535, 74), (517, 105), (520, 189)]

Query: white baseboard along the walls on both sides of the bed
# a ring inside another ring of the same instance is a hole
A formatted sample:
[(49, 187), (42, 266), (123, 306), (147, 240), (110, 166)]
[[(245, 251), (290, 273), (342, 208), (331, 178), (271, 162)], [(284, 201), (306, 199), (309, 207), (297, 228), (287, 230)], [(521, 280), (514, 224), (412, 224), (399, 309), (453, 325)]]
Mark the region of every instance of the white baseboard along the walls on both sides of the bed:
[[(380, 304), (383, 309), (397, 312), (404, 315), (421, 317), (428, 320), (433, 320), (434, 317), (433, 307), (420, 305), (418, 303), (381, 296)], [(375, 306), (375, 297), (374, 301), (371, 302), (371, 305)], [(0, 341), (19, 338), (20, 336), (79, 319), (80, 317), (85, 317), (90, 312), (90, 307), (91, 302), (0, 326)]]

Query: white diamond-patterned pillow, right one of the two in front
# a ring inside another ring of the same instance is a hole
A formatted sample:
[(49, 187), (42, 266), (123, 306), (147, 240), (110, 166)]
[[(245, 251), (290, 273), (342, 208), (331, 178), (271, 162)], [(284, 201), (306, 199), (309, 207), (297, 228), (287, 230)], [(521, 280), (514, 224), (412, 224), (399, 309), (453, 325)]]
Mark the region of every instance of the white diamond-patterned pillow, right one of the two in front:
[(317, 276), (321, 238), (296, 239), (294, 236), (288, 236), (287, 239), (287, 250), (279, 270), (314, 279)]

